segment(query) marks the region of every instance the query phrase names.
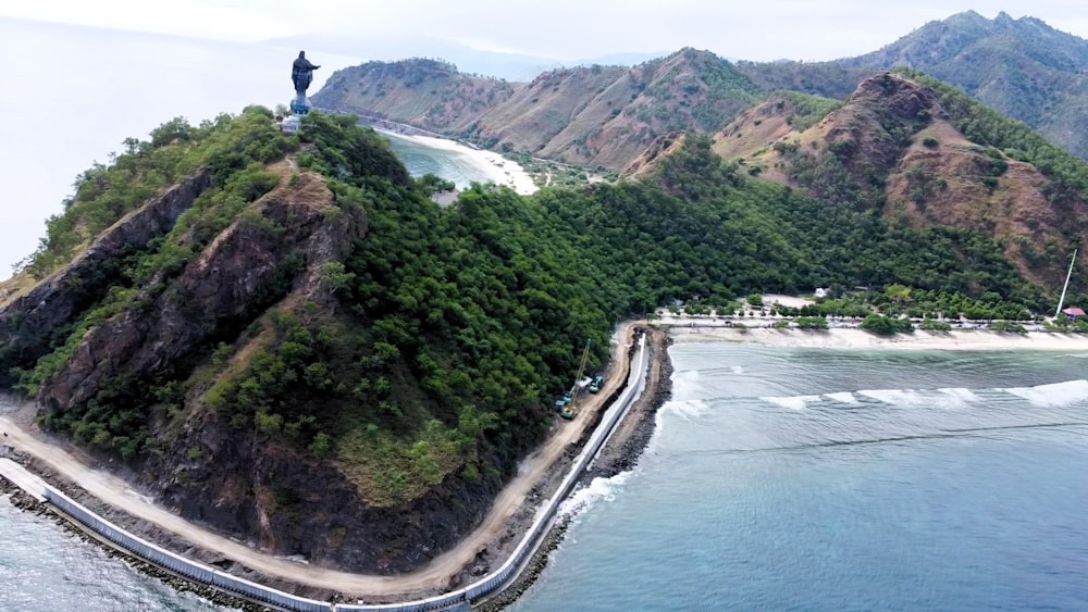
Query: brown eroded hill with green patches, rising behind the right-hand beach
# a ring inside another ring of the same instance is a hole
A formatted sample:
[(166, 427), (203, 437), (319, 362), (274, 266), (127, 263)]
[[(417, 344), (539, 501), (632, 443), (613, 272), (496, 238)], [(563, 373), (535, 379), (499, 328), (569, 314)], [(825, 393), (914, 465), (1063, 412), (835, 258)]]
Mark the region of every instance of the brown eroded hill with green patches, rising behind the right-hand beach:
[(895, 223), (981, 230), (1026, 277), (1060, 282), (1051, 255), (1079, 236), (1084, 208), (1052, 205), (1053, 178), (969, 140), (940, 100), (906, 76), (881, 74), (809, 126), (795, 121), (793, 102), (772, 97), (719, 132), (714, 149), (749, 174), (878, 209)]

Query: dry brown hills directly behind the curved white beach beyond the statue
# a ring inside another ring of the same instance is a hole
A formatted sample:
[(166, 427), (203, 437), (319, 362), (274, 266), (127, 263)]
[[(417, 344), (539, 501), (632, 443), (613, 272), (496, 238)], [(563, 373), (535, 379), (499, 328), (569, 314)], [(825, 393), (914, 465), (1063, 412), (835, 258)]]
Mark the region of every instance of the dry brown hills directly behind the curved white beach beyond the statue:
[(731, 63), (683, 49), (634, 67), (546, 72), (528, 84), (470, 77), (431, 60), (338, 71), (319, 107), (468, 138), (487, 148), (620, 170), (657, 138), (709, 134), (758, 99)]

